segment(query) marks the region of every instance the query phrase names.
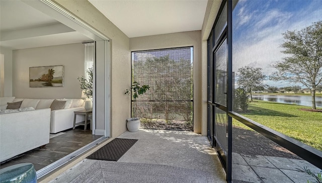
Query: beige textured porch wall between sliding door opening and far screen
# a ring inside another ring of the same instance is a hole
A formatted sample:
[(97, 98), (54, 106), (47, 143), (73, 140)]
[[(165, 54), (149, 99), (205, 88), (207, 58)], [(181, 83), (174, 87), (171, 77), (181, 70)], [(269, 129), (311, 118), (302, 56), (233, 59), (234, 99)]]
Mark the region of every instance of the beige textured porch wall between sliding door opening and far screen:
[[(96, 30), (110, 38), (111, 68), (111, 136), (117, 137), (126, 131), (126, 119), (130, 116), (131, 99), (124, 95), (125, 90), (131, 86), (131, 52), (129, 51), (129, 38), (99, 12), (88, 1), (54, 1), (57, 5), (71, 12)], [(103, 64), (102, 64), (103, 65)], [(104, 77), (105, 73), (97, 73)], [(104, 81), (105, 82), (105, 81)], [(102, 81), (97, 84), (105, 83)], [(105, 103), (105, 100), (97, 100), (97, 103)], [(99, 104), (98, 104), (99, 105)], [(104, 118), (103, 113), (97, 114)], [(100, 121), (97, 120), (97, 123)]]

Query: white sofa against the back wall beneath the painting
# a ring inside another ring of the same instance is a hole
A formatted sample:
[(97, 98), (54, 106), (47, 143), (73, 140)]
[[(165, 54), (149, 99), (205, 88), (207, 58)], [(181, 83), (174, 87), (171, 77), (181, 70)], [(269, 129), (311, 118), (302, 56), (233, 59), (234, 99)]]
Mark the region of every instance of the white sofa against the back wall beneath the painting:
[[(64, 109), (58, 109), (51, 111), (50, 114), (50, 133), (58, 133), (63, 130), (67, 130), (73, 127), (74, 111), (85, 110), (85, 102), (82, 99), (58, 99), (66, 101)], [(22, 101), (20, 108), (33, 107), (35, 110), (50, 108), (50, 105), (54, 99), (16, 99), (1, 98), (0, 105), (2, 110), (9, 103), (15, 103)], [(85, 120), (85, 116), (77, 116), (76, 123)]]

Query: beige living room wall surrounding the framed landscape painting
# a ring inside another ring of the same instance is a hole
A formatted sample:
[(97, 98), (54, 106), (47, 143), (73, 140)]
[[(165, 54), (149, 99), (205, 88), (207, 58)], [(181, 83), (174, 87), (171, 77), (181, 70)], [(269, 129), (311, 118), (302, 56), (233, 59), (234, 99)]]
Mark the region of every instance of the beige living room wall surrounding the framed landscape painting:
[[(77, 77), (84, 75), (84, 44), (13, 50), (13, 96), (29, 99), (80, 99)], [(29, 67), (63, 65), (63, 87), (29, 87)]]

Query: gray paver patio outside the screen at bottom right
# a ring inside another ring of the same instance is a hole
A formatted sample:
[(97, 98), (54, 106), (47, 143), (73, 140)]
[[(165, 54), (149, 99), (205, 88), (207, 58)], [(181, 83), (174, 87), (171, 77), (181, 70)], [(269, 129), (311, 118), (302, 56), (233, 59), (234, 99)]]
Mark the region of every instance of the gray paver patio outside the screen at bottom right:
[(300, 159), (289, 159), (274, 156), (249, 157), (232, 153), (233, 182), (315, 182), (314, 178), (300, 169), (309, 168), (312, 172), (321, 173), (321, 169)]

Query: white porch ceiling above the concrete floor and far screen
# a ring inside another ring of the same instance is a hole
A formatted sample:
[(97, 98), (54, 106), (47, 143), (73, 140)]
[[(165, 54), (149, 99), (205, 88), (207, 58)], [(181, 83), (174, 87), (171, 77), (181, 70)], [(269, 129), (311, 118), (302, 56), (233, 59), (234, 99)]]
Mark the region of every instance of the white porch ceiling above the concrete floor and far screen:
[(129, 38), (201, 30), (207, 0), (89, 0)]

